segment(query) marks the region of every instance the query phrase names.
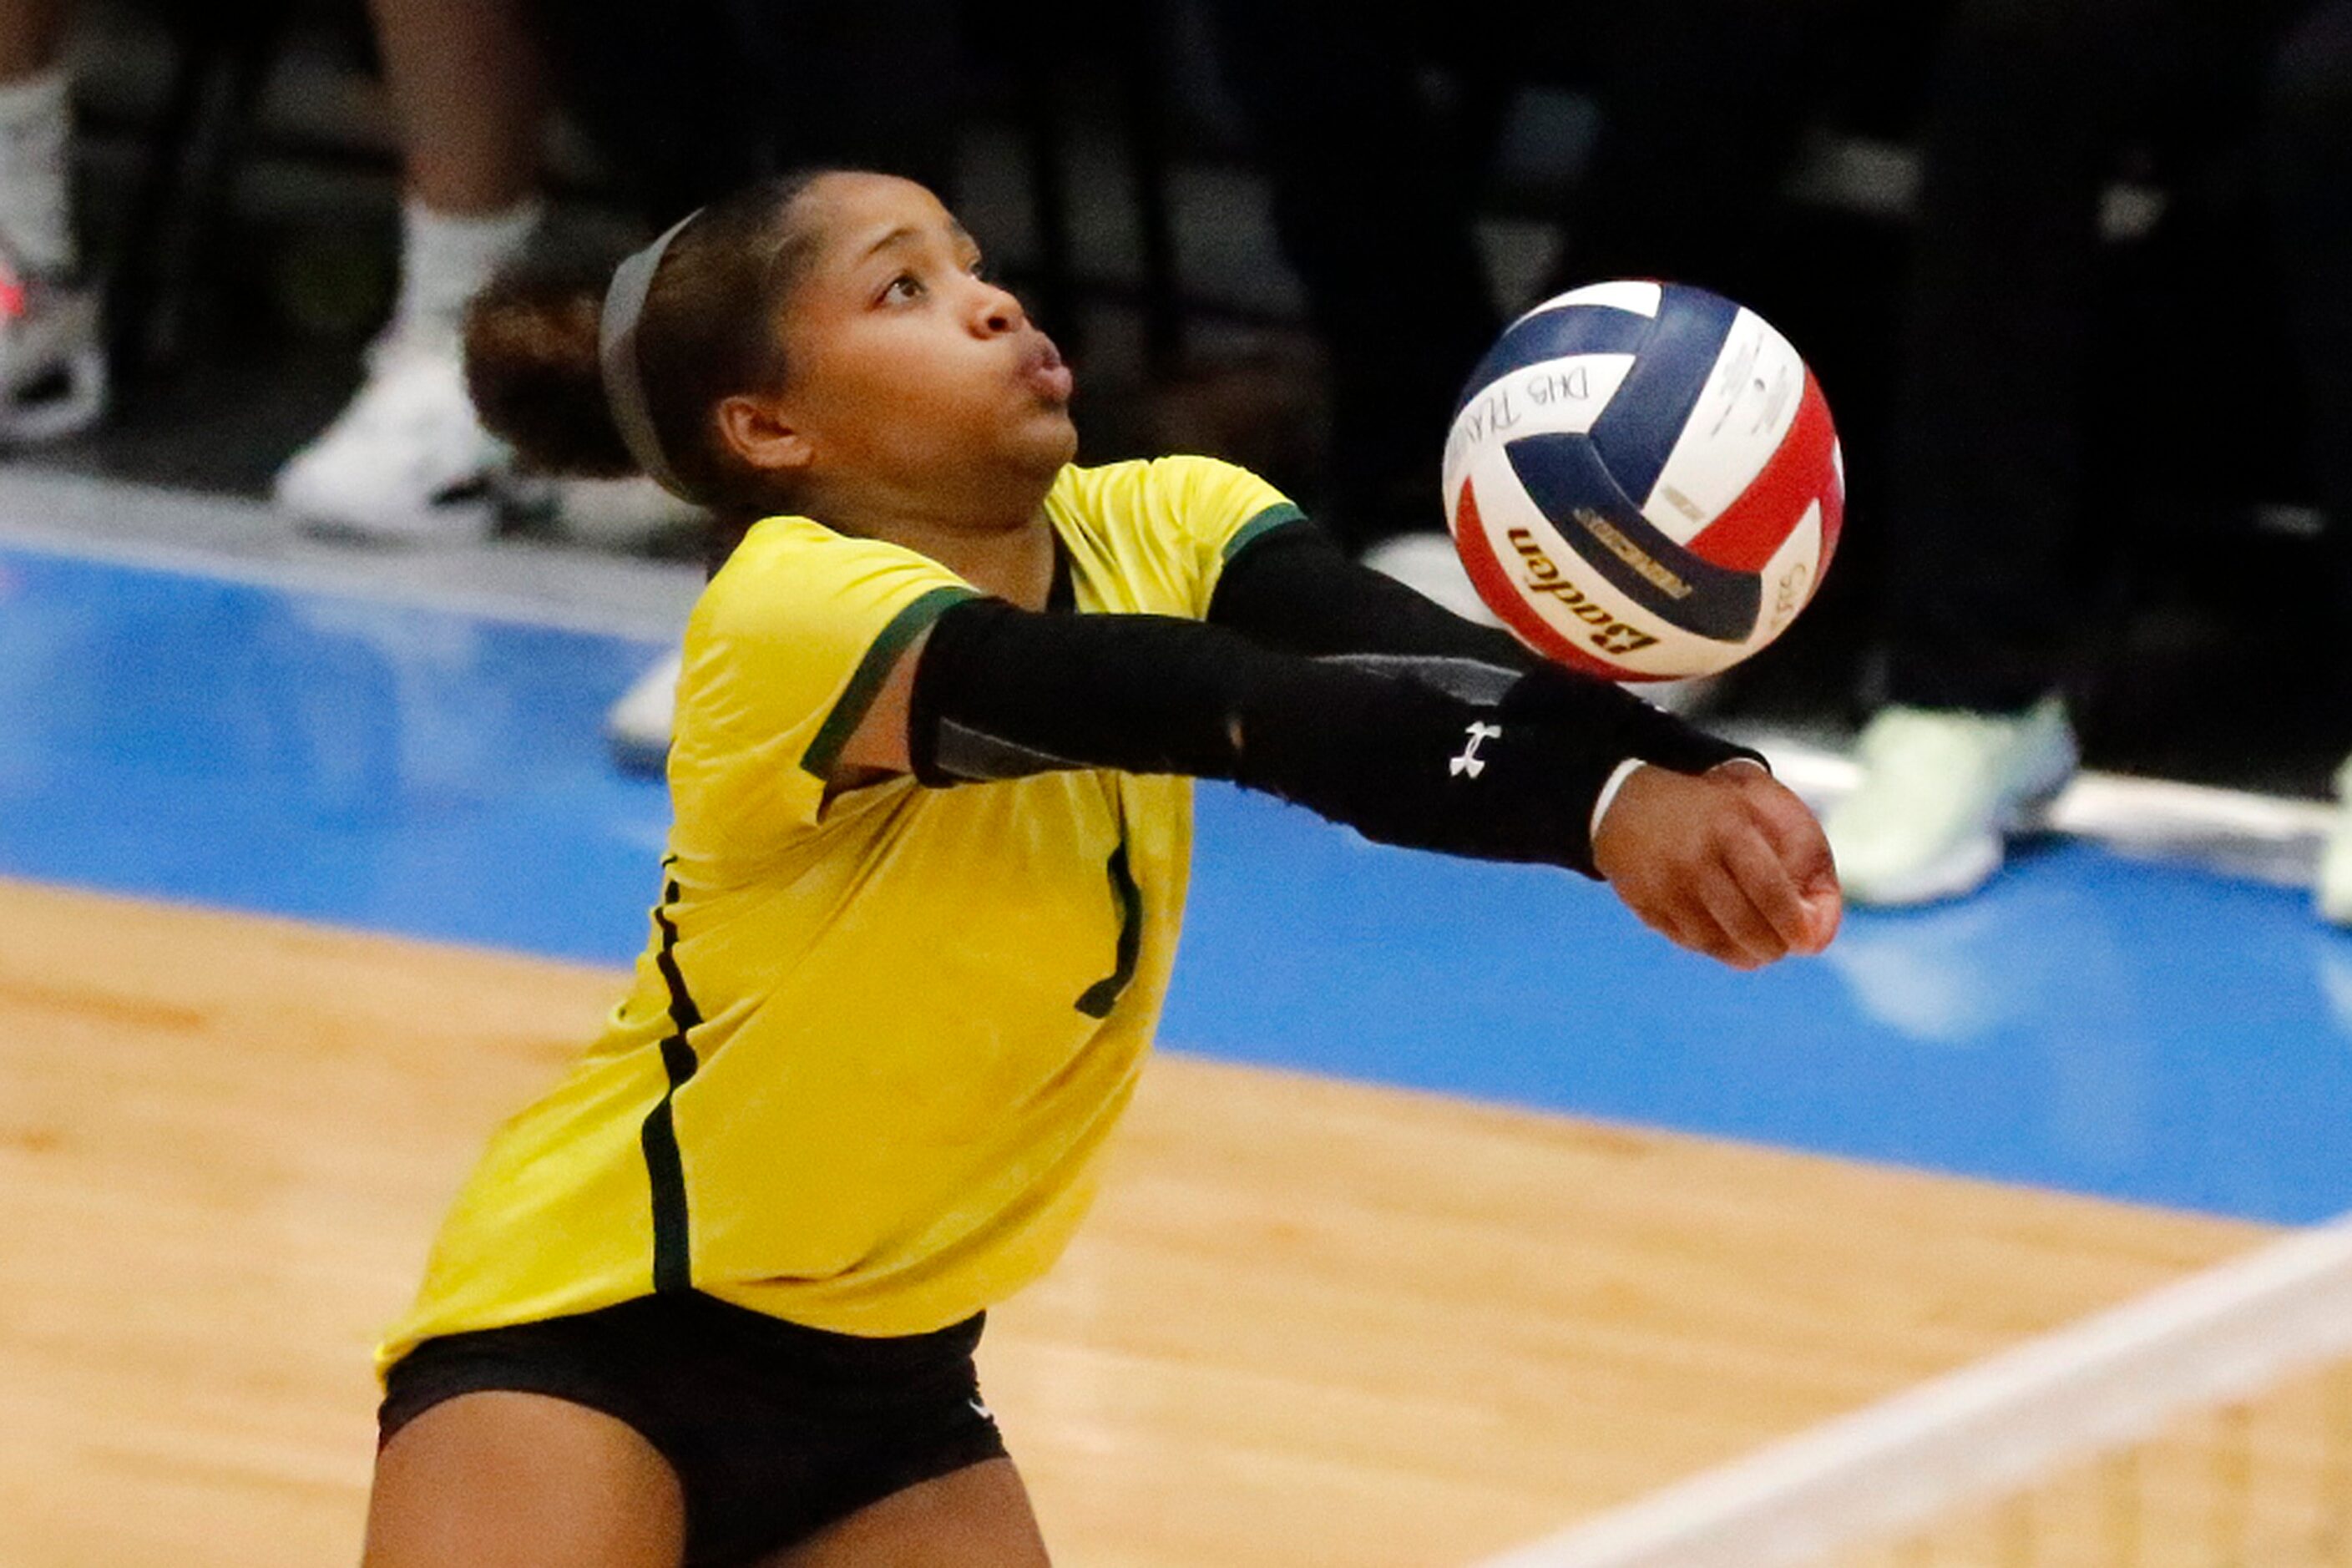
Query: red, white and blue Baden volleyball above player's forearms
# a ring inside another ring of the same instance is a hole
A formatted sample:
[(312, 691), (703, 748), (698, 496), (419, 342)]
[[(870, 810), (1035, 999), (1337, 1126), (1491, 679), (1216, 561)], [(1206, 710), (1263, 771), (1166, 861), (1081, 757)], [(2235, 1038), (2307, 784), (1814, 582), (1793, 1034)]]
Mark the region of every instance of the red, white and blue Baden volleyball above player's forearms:
[(1597, 282), (1512, 322), (1446, 435), (1446, 524), (1534, 651), (1609, 679), (1726, 670), (1820, 588), (1846, 470), (1813, 371), (1755, 310)]

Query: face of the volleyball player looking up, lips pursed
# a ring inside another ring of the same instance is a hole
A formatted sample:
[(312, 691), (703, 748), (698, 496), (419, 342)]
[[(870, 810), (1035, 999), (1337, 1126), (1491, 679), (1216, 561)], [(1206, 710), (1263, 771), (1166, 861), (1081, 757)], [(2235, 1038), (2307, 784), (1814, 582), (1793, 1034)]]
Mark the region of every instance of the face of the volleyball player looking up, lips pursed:
[(1077, 451), (1070, 369), (938, 197), (882, 174), (804, 195), (823, 249), (783, 324), (783, 414), (809, 477), (1049, 480)]

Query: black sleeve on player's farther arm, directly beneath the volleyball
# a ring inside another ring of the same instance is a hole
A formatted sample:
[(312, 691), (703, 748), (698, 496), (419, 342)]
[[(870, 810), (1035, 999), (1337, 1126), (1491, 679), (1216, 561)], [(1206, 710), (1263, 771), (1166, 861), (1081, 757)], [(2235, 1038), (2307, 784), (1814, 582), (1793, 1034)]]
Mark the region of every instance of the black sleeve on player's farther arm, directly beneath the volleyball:
[(1625, 757), (1677, 773), (1705, 773), (1733, 757), (1764, 762), (1611, 682), (1555, 665), (1510, 632), (1463, 621), (1355, 562), (1310, 522), (1279, 527), (1225, 562), (1209, 621), (1265, 646), (1345, 658), (1456, 696), (1501, 701), (1517, 684), (1522, 712), (1581, 724), (1595, 745), (1623, 745), (1611, 769)]

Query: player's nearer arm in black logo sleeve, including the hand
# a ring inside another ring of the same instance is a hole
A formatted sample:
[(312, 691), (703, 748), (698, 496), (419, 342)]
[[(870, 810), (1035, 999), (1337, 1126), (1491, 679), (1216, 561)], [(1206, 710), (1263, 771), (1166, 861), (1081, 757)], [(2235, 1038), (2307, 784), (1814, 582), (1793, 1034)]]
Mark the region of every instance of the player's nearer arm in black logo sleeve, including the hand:
[[(971, 599), (898, 663), (842, 764), (929, 785), (1073, 766), (1232, 778), (1381, 842), (1602, 875), (1646, 924), (1740, 969), (1830, 940), (1820, 830), (1762, 769), (1708, 771), (1738, 748), (1541, 665), (1491, 686), (1477, 701), (1228, 625)], [(1691, 736), (1700, 750), (1677, 750)], [(1595, 842), (1602, 783), (1644, 748), (1672, 755), (1625, 783)]]

